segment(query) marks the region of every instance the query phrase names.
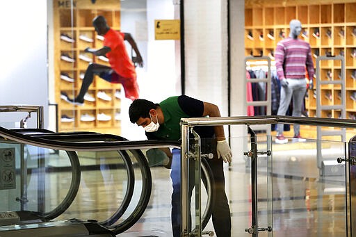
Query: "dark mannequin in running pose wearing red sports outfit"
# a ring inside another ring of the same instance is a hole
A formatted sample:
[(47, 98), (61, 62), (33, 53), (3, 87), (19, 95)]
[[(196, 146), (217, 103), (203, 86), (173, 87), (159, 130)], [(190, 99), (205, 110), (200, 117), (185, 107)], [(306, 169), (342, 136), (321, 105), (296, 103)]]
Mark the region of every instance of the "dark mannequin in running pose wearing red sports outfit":
[[(79, 94), (74, 99), (69, 98), (65, 93), (62, 93), (61, 97), (72, 104), (82, 105), (84, 103), (84, 95), (86, 95), (96, 74), (110, 83), (121, 83), (124, 87), (125, 97), (131, 100), (138, 99), (139, 88), (133, 63), (137, 63), (140, 67), (143, 67), (143, 60), (136, 42), (131, 37), (131, 34), (118, 32), (110, 28), (106, 23), (106, 19), (101, 15), (93, 19), (92, 25), (98, 35), (104, 36), (104, 47), (101, 49), (87, 48), (85, 51), (95, 56), (106, 56), (111, 67), (91, 63), (84, 75)], [(129, 58), (129, 54), (127, 54), (124, 40), (127, 40), (131, 44), (132, 49), (136, 53), (136, 57), (133, 58), (134, 62)]]

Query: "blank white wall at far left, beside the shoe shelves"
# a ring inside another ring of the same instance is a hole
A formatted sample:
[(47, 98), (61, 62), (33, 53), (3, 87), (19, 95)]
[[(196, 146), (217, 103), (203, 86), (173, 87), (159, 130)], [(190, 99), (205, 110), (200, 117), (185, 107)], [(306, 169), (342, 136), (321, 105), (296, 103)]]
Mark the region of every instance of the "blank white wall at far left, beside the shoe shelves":
[[(39, 105), (47, 113), (46, 8), (45, 1), (1, 1), (0, 105)], [(19, 122), (18, 115), (0, 114), (7, 122)], [(35, 116), (29, 126), (36, 126)]]

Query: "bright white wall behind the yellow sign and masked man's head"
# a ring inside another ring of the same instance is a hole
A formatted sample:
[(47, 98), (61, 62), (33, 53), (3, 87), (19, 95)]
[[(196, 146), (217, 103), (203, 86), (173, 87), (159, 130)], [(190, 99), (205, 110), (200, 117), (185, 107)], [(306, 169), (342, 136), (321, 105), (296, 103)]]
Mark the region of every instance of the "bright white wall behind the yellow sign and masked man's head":
[[(177, 90), (177, 72), (175, 65), (175, 41), (174, 40), (154, 40), (154, 20), (155, 19), (175, 19), (175, 6), (172, 0), (147, 0), (147, 42), (136, 39), (135, 18), (139, 13), (130, 11), (126, 1), (122, 2), (122, 31), (130, 32), (138, 43), (138, 47), (143, 50), (145, 67), (137, 67), (137, 80), (140, 86), (140, 98), (148, 99), (154, 103), (159, 103), (163, 99), (180, 95)], [(138, 9), (142, 9), (139, 8)], [(143, 14), (143, 13), (141, 13)], [(129, 20), (131, 19), (131, 21)], [(143, 18), (139, 16), (139, 21)], [(137, 19), (136, 19), (137, 20)], [(139, 22), (140, 23), (140, 22)], [(145, 49), (145, 47), (147, 47)], [(147, 50), (147, 51), (146, 51)], [(141, 127), (129, 122), (129, 106), (131, 100), (122, 100), (122, 136), (129, 140), (145, 140), (145, 132)]]

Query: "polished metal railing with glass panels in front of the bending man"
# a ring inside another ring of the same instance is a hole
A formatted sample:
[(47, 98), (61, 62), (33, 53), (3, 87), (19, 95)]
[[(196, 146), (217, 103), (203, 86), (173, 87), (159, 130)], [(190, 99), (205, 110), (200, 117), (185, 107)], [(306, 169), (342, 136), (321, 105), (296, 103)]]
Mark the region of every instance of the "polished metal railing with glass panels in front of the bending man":
[[(220, 126), (220, 125), (247, 125), (250, 129), (250, 125), (253, 124), (302, 124), (313, 126), (327, 126), (327, 127), (341, 127), (356, 129), (355, 120), (348, 119), (332, 119), (323, 117), (291, 117), (291, 116), (241, 116), (241, 117), (198, 117), (198, 118), (182, 118), (181, 119), (181, 236), (202, 236), (202, 232), (193, 233), (191, 231), (190, 221), (190, 193), (188, 188), (189, 167), (189, 133), (193, 130), (194, 126)], [(257, 148), (255, 147), (255, 140), (252, 138), (251, 133), (251, 150), (249, 154), (252, 161), (257, 158)], [(253, 149), (254, 147), (254, 149)], [(200, 161), (200, 157), (197, 157), (197, 161)], [(251, 183), (252, 183), (252, 200), (257, 200), (257, 162), (251, 163)], [(197, 184), (197, 190), (200, 190), (199, 184)], [(196, 192), (195, 202), (200, 202), (199, 192)], [(198, 205), (198, 208), (199, 205)], [(257, 202), (252, 202), (252, 210), (257, 210)], [(200, 213), (200, 210), (196, 210), (196, 213)], [(195, 229), (200, 229), (199, 222), (195, 223)], [(252, 236), (257, 236), (260, 228), (257, 228), (257, 211), (252, 211), (252, 227), (246, 229)], [(270, 227), (262, 228), (262, 231), (272, 231)]]

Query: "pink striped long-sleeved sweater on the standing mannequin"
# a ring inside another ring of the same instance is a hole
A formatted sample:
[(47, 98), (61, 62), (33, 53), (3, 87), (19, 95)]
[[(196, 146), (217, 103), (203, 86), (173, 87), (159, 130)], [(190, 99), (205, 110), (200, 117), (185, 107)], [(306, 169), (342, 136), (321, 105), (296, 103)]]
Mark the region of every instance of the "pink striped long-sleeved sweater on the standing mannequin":
[(280, 80), (305, 79), (305, 67), (309, 78), (314, 76), (314, 65), (310, 44), (300, 39), (286, 38), (277, 44), (275, 66)]

